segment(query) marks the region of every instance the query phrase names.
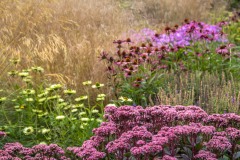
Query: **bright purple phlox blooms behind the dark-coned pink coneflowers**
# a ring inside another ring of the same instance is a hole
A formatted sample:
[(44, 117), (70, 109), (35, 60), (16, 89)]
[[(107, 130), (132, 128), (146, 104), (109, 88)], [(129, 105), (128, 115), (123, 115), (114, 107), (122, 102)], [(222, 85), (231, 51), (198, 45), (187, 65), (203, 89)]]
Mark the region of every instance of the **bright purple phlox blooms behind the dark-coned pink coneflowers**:
[(210, 25), (203, 22), (191, 21), (182, 26), (166, 27), (165, 32), (157, 34), (151, 29), (144, 28), (139, 32), (131, 31), (130, 37), (135, 44), (150, 41), (156, 47), (185, 47), (200, 40), (227, 42), (220, 25)]

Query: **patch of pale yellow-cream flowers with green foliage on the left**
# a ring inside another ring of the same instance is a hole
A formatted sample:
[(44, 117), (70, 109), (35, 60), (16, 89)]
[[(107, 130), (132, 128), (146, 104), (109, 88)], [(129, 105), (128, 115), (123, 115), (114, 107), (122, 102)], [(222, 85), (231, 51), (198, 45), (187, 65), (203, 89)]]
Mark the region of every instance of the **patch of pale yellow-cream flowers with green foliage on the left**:
[(9, 73), (15, 91), (5, 96), (7, 93), (2, 91), (0, 98), (0, 129), (8, 133), (7, 142), (76, 146), (89, 138), (92, 129), (102, 122), (105, 95), (100, 94), (98, 87), (97, 99), (90, 103), (89, 91), (96, 90), (91, 81), (83, 83), (85, 95), (77, 96), (75, 90), (64, 89), (62, 84), (46, 85), (43, 75), (42, 84), (34, 85), (34, 78), (39, 76), (35, 74), (43, 74), (41, 67)]

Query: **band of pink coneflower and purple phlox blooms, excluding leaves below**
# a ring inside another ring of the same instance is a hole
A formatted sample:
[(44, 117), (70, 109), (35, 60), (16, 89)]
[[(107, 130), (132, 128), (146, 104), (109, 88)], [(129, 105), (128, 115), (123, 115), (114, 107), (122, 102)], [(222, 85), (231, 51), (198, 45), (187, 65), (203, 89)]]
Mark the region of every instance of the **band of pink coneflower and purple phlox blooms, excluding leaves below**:
[[(238, 17), (236, 17), (238, 19)], [(100, 58), (107, 61), (107, 70), (111, 75), (122, 74), (125, 77), (133, 77), (139, 71), (139, 67), (144, 66), (149, 71), (170, 70), (173, 67), (186, 71), (188, 68), (184, 64), (184, 59), (195, 52), (195, 58), (221, 55), (223, 58), (230, 57), (230, 50), (233, 44), (228, 43), (227, 36), (223, 33), (223, 27), (232, 21), (222, 21), (221, 23), (210, 25), (204, 22), (185, 20), (178, 26), (166, 27), (165, 32), (157, 33), (145, 28), (139, 32), (132, 31), (130, 38), (116, 40), (116, 52), (108, 54), (102, 52)], [(209, 45), (213, 45), (214, 49)], [(199, 51), (190, 49), (197, 44)], [(203, 49), (204, 48), (204, 49)], [(172, 59), (173, 55), (180, 54), (182, 59)], [(210, 54), (211, 53), (211, 54)], [(171, 65), (176, 61), (176, 65)], [(139, 87), (144, 77), (137, 77), (133, 86)]]

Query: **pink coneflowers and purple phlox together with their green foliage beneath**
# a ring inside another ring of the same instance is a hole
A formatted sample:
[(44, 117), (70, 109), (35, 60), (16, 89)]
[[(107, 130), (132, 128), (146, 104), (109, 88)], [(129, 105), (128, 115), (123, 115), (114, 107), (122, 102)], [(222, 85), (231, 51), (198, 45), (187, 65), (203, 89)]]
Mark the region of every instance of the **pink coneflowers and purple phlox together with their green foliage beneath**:
[(114, 53), (100, 54), (108, 78), (112, 80), (114, 95), (117, 98), (131, 96), (132, 104), (154, 105), (154, 100), (151, 103), (143, 97), (157, 94), (156, 88), (161, 87), (163, 81), (160, 75), (164, 73), (221, 73), (226, 70), (237, 73), (232, 63), (238, 65), (239, 58), (234, 44), (223, 32), (224, 26), (186, 20), (180, 26), (166, 27), (160, 34), (145, 28), (130, 33), (130, 38), (114, 41)]

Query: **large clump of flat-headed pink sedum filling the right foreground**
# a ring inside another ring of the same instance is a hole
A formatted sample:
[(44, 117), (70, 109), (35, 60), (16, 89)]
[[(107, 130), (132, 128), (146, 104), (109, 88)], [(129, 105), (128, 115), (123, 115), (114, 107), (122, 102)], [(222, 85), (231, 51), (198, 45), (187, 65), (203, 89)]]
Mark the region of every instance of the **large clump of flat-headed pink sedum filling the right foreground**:
[(217, 160), (239, 151), (240, 121), (234, 113), (208, 115), (197, 106), (107, 106), (106, 122), (82, 147), (85, 160)]

